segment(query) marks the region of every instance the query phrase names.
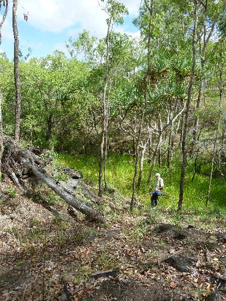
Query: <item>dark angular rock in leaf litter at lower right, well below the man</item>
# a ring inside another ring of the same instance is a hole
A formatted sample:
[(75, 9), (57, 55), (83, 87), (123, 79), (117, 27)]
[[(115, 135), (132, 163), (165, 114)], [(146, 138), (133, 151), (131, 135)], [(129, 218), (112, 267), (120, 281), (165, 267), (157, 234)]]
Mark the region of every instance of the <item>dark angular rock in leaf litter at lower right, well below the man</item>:
[(197, 262), (197, 257), (190, 253), (180, 253), (166, 258), (164, 262), (175, 267), (179, 272), (190, 272)]

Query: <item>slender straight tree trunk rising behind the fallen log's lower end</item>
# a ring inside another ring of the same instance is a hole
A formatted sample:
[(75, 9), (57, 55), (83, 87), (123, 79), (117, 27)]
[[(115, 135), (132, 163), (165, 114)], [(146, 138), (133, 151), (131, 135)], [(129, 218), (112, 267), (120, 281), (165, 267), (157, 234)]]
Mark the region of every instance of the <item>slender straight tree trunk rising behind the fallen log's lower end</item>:
[(107, 35), (106, 35), (106, 68), (104, 75), (104, 87), (103, 87), (103, 95), (102, 95), (102, 128), (100, 135), (100, 152), (99, 152), (99, 192), (98, 195), (101, 197), (103, 194), (102, 189), (102, 170), (103, 170), (103, 149), (104, 149), (104, 136), (106, 130), (106, 103), (105, 103), (105, 95), (108, 84), (108, 68), (109, 68), (109, 33), (110, 33), (111, 22), (108, 21), (107, 27)]

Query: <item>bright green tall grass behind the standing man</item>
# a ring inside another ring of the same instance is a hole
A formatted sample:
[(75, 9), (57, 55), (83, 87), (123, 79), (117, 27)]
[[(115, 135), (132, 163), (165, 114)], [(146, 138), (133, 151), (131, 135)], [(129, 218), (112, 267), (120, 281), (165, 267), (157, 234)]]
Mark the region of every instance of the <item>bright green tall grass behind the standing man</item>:
[[(69, 166), (81, 171), (85, 179), (90, 180), (94, 184), (98, 183), (98, 158), (93, 155), (65, 155), (58, 156), (57, 161), (63, 166)], [(137, 196), (141, 202), (149, 204), (149, 190), (147, 186), (147, 178), (149, 173), (149, 165), (144, 163), (144, 172), (141, 188)], [(174, 163), (169, 170), (163, 165), (161, 169), (155, 168), (154, 174), (159, 172), (164, 179), (164, 192), (169, 198), (160, 197), (159, 204), (163, 208), (176, 209), (179, 198), (180, 184), (180, 162)], [(110, 154), (107, 160), (107, 181), (111, 188), (115, 188), (122, 195), (131, 197), (132, 180), (134, 175), (134, 163), (131, 155)], [(197, 174), (193, 183), (191, 167), (186, 169), (184, 202), (183, 208), (186, 210), (202, 210), (205, 208), (206, 192), (208, 188), (208, 176)], [(153, 179), (154, 181), (154, 179)], [(154, 182), (153, 182), (154, 183)], [(153, 184), (151, 184), (152, 186)], [(210, 190), (210, 199), (208, 211), (225, 208), (225, 192), (226, 181), (221, 178), (213, 178)]]

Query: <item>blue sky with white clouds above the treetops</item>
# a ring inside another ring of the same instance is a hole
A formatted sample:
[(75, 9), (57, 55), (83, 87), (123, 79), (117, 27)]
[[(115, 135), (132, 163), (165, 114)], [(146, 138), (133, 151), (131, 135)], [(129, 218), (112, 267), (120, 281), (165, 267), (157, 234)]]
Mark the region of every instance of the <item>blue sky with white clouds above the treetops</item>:
[[(106, 15), (98, 5), (99, 0), (18, 0), (18, 30), (20, 49), (23, 55), (32, 49), (33, 57), (53, 54), (54, 50), (67, 52), (65, 42), (70, 37), (77, 38), (84, 29), (91, 35), (102, 38), (106, 35)], [(142, 0), (121, 0), (129, 11), (123, 26), (115, 30), (134, 37), (140, 35), (132, 21), (137, 16)], [(100, 2), (100, 1), (99, 1)], [(100, 2), (101, 3), (101, 2)], [(13, 58), (14, 37), (12, 29), (12, 5), (3, 25), (0, 51)], [(1, 13), (2, 14), (2, 13)], [(28, 15), (28, 21), (24, 20)]]

